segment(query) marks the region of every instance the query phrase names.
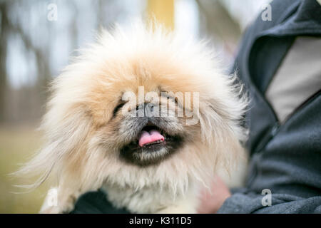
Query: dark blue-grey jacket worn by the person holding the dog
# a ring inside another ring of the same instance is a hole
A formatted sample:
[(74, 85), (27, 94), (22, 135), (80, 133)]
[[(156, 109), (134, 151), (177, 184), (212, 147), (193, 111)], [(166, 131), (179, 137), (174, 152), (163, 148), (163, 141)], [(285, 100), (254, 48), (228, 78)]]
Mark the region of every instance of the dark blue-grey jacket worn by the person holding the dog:
[[(246, 187), (234, 190), (220, 213), (321, 212), (320, 90), (282, 125), (264, 95), (295, 37), (321, 36), (321, 6), (315, 0), (275, 0), (271, 8), (272, 21), (258, 17), (235, 60), (234, 70), (252, 99), (250, 170)], [(262, 204), (264, 189), (272, 192), (270, 207)]]

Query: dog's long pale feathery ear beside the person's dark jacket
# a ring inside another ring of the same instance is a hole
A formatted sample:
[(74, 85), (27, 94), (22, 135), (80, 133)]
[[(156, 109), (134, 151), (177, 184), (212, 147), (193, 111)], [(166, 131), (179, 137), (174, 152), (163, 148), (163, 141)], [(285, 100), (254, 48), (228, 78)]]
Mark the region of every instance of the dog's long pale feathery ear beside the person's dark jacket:
[[(242, 142), (247, 130), (240, 124), (248, 107), (248, 97), (235, 76), (222, 76), (223, 93), (208, 93), (200, 98), (200, 127), (202, 139), (221, 152), (221, 164), (227, 170), (244, 155)], [(235, 159), (236, 158), (236, 159)]]

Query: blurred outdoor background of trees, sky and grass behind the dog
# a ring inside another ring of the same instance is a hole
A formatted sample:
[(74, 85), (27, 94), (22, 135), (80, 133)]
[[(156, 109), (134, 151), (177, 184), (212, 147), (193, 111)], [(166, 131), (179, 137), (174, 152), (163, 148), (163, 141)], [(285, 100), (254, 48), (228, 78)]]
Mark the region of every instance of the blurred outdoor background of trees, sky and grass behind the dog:
[[(226, 69), (246, 26), (267, 0), (0, 0), (0, 213), (39, 211), (49, 184), (29, 193), (14, 185), (21, 163), (41, 146), (36, 130), (48, 83), (94, 41), (95, 31), (153, 15), (168, 28), (210, 38)], [(55, 15), (52, 15), (52, 14)]]

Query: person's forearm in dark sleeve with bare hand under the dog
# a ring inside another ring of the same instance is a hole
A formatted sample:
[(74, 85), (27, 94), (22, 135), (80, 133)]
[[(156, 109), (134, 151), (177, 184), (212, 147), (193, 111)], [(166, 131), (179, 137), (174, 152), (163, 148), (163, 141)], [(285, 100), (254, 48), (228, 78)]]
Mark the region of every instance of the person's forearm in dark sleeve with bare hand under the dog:
[(220, 178), (212, 185), (212, 194), (204, 190), (198, 213), (202, 214), (255, 214), (255, 213), (321, 213), (321, 196), (302, 198), (286, 194), (271, 194), (268, 206), (267, 195), (247, 192), (240, 189), (231, 195), (230, 190)]

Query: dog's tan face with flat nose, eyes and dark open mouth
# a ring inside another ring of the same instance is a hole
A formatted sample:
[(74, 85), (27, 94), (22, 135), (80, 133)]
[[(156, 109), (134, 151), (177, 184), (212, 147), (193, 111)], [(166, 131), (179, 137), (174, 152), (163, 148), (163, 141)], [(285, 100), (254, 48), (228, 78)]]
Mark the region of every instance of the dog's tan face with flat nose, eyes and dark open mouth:
[[(88, 100), (92, 96), (99, 100), (88, 107), (93, 121), (100, 123), (97, 132), (108, 147), (106, 152), (114, 153), (120, 162), (144, 167), (200, 142), (200, 92), (188, 82), (194, 76), (165, 58), (141, 56), (136, 61), (126, 62), (127, 72), (114, 72), (112, 82), (103, 76), (103, 82), (88, 93)], [(183, 83), (181, 76), (185, 76)]]

